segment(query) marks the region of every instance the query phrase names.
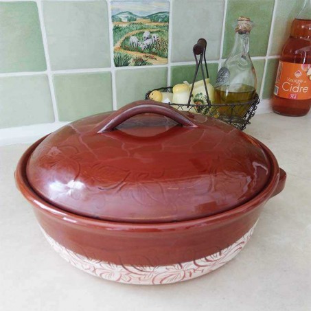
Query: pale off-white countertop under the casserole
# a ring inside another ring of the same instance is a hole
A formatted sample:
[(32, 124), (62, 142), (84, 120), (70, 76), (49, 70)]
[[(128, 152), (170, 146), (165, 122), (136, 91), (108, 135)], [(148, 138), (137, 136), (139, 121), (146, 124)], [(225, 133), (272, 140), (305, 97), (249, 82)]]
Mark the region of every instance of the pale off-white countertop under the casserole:
[(311, 310), (311, 118), (257, 115), (246, 133), (288, 174), (244, 250), (179, 284), (134, 286), (92, 277), (47, 244), (14, 185), (28, 145), (0, 147), (0, 310)]

